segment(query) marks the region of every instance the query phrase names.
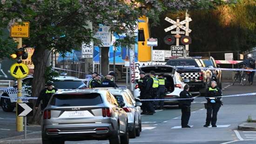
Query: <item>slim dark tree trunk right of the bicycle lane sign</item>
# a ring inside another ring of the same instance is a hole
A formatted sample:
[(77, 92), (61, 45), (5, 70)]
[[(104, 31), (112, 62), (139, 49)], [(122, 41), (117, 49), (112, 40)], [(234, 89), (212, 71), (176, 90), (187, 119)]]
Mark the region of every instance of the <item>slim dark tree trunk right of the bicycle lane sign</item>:
[(108, 58), (109, 47), (101, 48), (101, 72), (104, 76), (108, 74), (109, 58)]

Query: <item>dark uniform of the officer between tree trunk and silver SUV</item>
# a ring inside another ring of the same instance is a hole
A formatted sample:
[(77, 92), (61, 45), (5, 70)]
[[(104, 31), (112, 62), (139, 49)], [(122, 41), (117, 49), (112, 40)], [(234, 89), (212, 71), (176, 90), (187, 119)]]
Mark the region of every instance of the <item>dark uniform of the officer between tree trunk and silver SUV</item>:
[(38, 107), (40, 104), (40, 101), (42, 100), (43, 103), (41, 104), (41, 111), (43, 111), (48, 105), (50, 98), (56, 91), (58, 90), (55, 88), (53, 88), (52, 90), (48, 90), (47, 88), (43, 89), (36, 100), (35, 107)]

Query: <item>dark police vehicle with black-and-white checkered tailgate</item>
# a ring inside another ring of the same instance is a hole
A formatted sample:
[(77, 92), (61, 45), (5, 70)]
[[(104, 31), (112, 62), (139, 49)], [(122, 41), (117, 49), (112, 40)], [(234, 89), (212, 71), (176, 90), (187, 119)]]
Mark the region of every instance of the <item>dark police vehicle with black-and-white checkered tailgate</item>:
[(202, 70), (204, 65), (199, 59), (169, 59), (166, 65), (172, 65), (177, 68), (185, 83), (189, 85), (189, 91), (200, 92), (205, 95), (208, 85), (211, 81), (209, 71)]

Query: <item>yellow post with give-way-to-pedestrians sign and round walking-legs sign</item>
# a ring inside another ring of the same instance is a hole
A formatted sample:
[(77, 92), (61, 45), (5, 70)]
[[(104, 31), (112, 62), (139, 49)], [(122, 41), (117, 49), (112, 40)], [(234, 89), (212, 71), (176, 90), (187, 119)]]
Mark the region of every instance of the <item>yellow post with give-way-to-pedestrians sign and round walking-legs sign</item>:
[[(15, 22), (11, 28), (10, 28), (10, 37), (16, 38), (14, 39), (16, 42), (18, 42), (17, 48), (22, 47), (22, 38), (29, 38), (29, 27), (30, 23), (28, 21), (21, 21), (18, 20), (18, 22)], [(21, 59), (21, 56), (18, 58)], [(11, 74), (14, 78), (17, 79), (18, 84), (18, 93), (17, 93), (17, 102), (16, 107), (18, 103), (22, 103), (21, 97), (22, 97), (22, 82), (21, 79), (26, 77), (29, 73), (29, 69), (27, 65), (24, 66), (24, 64), (13, 64), (11, 66)], [(26, 124), (25, 124), (26, 125)], [(17, 131), (23, 131), (23, 118), (18, 117), (18, 113), (16, 111), (16, 129)]]

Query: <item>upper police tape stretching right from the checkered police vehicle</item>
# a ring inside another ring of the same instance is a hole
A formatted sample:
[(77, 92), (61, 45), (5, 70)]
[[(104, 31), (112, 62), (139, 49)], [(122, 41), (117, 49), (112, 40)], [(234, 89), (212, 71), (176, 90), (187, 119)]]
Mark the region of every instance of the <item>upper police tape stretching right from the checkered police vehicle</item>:
[(197, 69), (197, 70), (223, 70), (223, 71), (249, 71), (256, 72), (256, 69), (239, 69), (239, 68), (209, 68), (209, 67), (189, 67), (189, 66), (176, 66), (181, 69)]

